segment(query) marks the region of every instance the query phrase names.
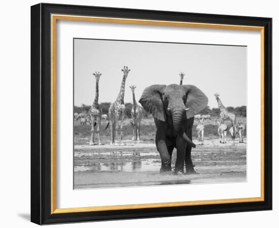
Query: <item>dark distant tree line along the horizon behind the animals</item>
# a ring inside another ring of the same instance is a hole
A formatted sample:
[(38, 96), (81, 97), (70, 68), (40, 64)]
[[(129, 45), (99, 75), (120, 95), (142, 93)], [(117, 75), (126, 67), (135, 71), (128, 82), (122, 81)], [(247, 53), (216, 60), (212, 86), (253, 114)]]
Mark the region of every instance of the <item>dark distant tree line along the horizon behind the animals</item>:
[[(110, 108), (110, 105), (111, 103), (110, 102), (103, 102), (103, 103), (100, 103), (100, 109), (102, 111), (103, 114), (109, 114), (109, 108)], [(132, 103), (125, 103), (125, 116), (127, 118), (131, 118), (131, 109), (132, 109), (132, 106), (133, 104)], [(85, 105), (85, 104), (82, 104), (82, 106), (74, 106), (74, 113), (77, 112), (77, 113), (81, 113), (81, 112), (85, 112), (87, 113), (90, 109), (90, 105)], [(230, 112), (233, 112), (235, 113), (236, 116), (239, 116), (239, 117), (246, 117), (246, 106), (240, 106), (240, 107), (227, 107), (228, 111)], [(200, 112), (201, 115), (211, 115), (212, 117), (218, 117), (220, 115), (220, 110), (219, 108), (210, 108), (208, 106), (206, 106), (201, 112)], [(147, 118), (149, 117), (150, 114), (145, 110), (143, 109), (143, 117), (144, 118)]]

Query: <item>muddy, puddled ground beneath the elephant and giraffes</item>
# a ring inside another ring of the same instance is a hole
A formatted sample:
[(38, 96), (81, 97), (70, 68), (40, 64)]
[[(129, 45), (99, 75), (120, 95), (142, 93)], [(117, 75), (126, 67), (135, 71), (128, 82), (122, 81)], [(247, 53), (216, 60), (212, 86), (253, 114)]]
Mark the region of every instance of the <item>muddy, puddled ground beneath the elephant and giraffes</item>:
[[(132, 127), (125, 120), (123, 127), (124, 146), (110, 146), (109, 129), (104, 131), (103, 145), (89, 146), (90, 126), (75, 123), (74, 126), (74, 188), (107, 188), (147, 186), (164, 184), (202, 184), (246, 181), (246, 138), (245, 143), (220, 144), (215, 120), (204, 123), (204, 141), (196, 138), (193, 126), (192, 149), (195, 175), (160, 175), (160, 155), (154, 143), (156, 127), (152, 119), (143, 120), (141, 141), (133, 141)], [(246, 119), (242, 120), (246, 123)], [(229, 124), (228, 124), (229, 126)], [(230, 127), (230, 126), (229, 126)], [(172, 166), (175, 166), (176, 149), (173, 150)]]

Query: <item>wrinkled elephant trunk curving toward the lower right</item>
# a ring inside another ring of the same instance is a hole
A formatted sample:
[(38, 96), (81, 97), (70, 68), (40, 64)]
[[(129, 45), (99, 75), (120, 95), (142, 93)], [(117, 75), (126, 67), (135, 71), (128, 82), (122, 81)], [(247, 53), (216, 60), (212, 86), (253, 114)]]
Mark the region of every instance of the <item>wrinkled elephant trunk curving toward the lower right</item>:
[(185, 132), (182, 130), (182, 117), (185, 108), (182, 109), (173, 109), (172, 110), (172, 124), (173, 129), (178, 133), (180, 137), (182, 137), (191, 147), (196, 147), (196, 145), (192, 142), (192, 140), (187, 136)]

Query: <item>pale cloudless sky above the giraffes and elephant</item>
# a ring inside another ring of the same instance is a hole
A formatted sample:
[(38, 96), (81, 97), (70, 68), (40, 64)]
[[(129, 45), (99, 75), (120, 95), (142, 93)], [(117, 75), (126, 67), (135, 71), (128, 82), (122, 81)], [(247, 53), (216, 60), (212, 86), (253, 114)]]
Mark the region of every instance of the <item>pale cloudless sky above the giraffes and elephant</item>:
[(74, 39), (74, 105), (91, 105), (95, 97), (95, 71), (99, 103), (114, 102), (120, 90), (123, 66), (126, 78), (124, 102), (132, 102), (129, 86), (135, 84), (138, 101), (152, 84), (194, 84), (218, 107), (218, 92), (225, 106), (247, 105), (247, 47), (134, 41)]

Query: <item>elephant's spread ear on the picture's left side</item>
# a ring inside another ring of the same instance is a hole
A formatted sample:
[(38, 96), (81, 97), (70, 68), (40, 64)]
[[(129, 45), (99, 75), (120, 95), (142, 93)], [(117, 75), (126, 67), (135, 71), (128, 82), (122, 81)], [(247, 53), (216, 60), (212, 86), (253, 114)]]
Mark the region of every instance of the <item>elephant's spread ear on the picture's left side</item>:
[(166, 118), (161, 97), (165, 87), (166, 85), (164, 84), (154, 84), (153, 86), (147, 87), (141, 99), (138, 101), (144, 109), (152, 113), (154, 118), (164, 122)]

